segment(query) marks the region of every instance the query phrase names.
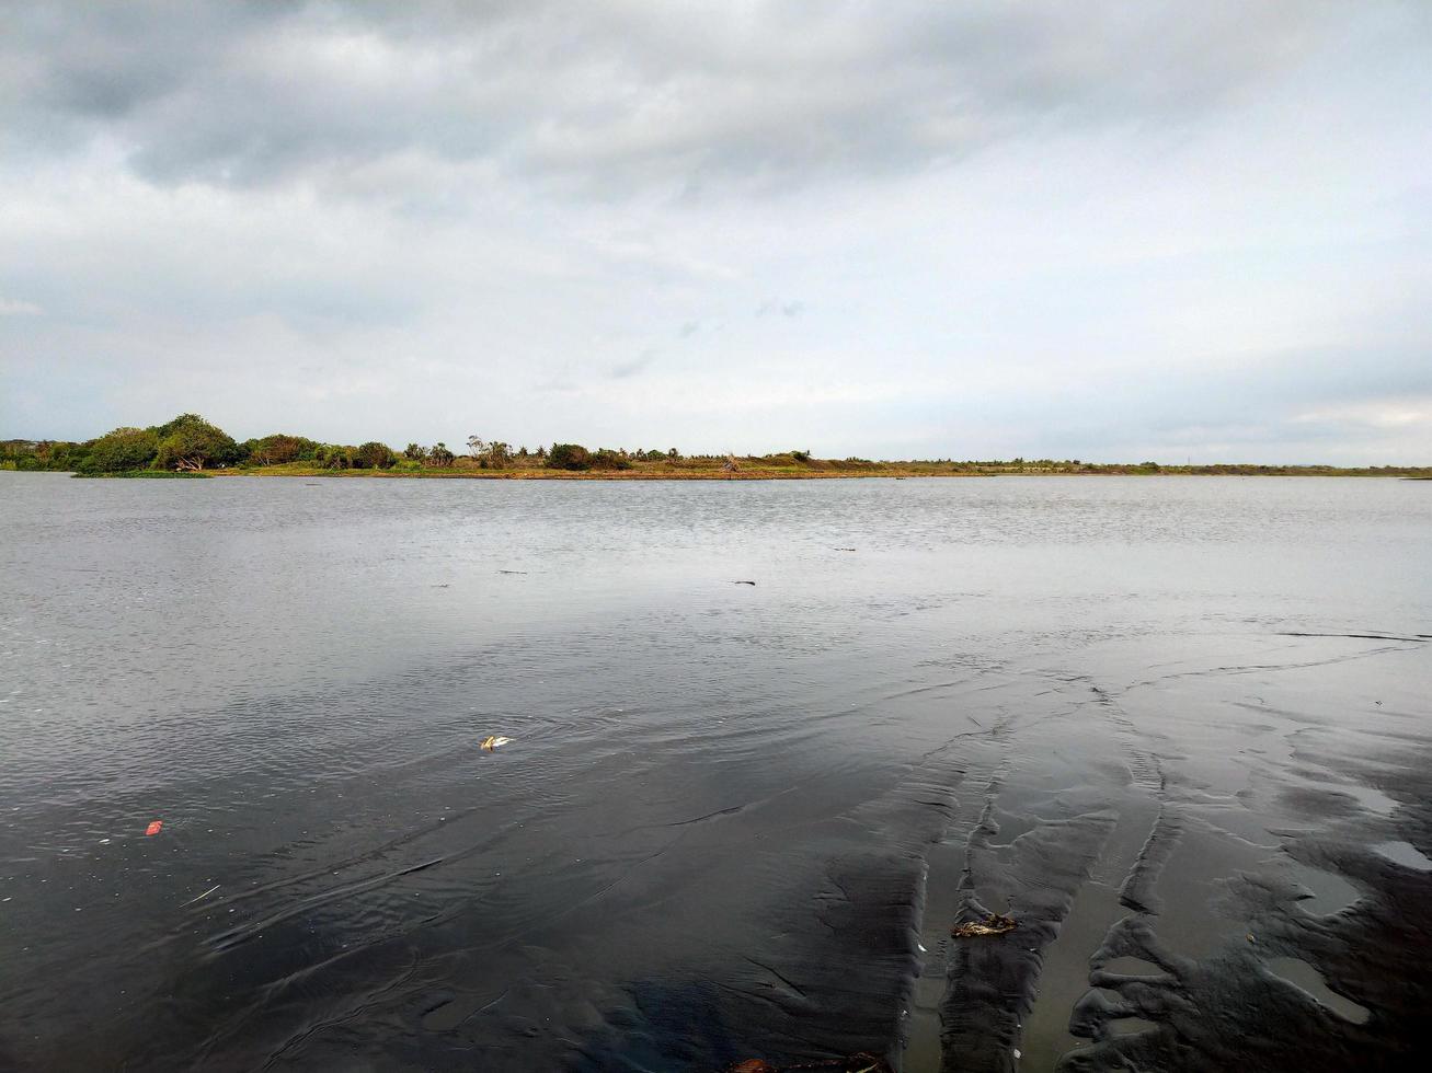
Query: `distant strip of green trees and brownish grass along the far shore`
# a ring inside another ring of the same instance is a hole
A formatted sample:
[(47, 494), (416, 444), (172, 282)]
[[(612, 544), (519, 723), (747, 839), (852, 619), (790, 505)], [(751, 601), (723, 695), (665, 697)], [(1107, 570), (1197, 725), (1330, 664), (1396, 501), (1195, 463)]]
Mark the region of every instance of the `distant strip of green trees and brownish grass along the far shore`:
[(1018, 474), (1190, 474), (1287, 476), (1416, 476), (1432, 478), (1432, 466), (1266, 466), (1093, 464), (1080, 459), (878, 462), (868, 458), (822, 459), (809, 451), (775, 455), (683, 455), (666, 451), (593, 448), (553, 444), (528, 451), (500, 439), (468, 436), (467, 454), (447, 444), (408, 444), (401, 454), (387, 444), (358, 446), (321, 444), (288, 432), (235, 441), (196, 413), (180, 413), (165, 425), (117, 428), (83, 444), (66, 441), (0, 441), (0, 469), (50, 469), (82, 476), (166, 476), (208, 474), (392, 476), (624, 476), (666, 479), (760, 479), (803, 476), (995, 476)]

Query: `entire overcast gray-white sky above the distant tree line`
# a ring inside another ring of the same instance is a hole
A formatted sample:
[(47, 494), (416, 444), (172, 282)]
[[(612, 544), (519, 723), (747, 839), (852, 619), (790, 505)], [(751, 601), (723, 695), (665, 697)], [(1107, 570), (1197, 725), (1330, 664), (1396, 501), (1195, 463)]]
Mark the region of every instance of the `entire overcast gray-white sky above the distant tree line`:
[(0, 0), (0, 438), (1432, 464), (1432, 4)]

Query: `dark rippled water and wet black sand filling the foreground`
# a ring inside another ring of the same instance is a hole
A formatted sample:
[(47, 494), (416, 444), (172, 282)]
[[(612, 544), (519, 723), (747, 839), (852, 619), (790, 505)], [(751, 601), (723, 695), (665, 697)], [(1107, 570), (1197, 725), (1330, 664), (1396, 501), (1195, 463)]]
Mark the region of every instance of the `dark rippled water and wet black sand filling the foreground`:
[(0, 1066), (1402, 1067), (1429, 564), (1398, 481), (0, 474)]

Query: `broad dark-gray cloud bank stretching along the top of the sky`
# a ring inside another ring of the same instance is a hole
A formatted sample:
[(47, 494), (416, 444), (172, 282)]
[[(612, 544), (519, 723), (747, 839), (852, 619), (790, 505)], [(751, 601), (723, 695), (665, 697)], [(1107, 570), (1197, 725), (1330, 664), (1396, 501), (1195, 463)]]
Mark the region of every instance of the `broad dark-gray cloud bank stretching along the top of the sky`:
[(587, 193), (906, 172), (1167, 127), (1337, 39), (1319, 4), (11, 4), (11, 150), (152, 182), (335, 183), (404, 153)]

